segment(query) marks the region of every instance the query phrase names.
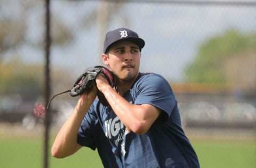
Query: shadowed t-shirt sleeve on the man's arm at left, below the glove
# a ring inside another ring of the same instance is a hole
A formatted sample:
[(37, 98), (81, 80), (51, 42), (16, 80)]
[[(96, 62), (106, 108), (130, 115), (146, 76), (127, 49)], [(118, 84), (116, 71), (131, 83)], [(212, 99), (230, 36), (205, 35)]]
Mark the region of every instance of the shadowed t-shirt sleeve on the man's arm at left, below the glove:
[(89, 111), (85, 114), (77, 134), (77, 143), (81, 146), (89, 147), (93, 150), (97, 148), (94, 140), (93, 131), (97, 126), (98, 118), (92, 105)]

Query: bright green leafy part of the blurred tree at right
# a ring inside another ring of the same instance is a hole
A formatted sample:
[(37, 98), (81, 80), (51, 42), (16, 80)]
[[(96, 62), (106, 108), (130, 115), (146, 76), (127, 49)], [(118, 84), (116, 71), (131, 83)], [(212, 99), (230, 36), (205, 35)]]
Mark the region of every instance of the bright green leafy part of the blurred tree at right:
[[(227, 82), (223, 63), (238, 53), (256, 48), (256, 34), (243, 35), (228, 30), (220, 36), (206, 40), (199, 47), (194, 62), (185, 70), (189, 82)], [(240, 54), (243, 55), (243, 54)]]

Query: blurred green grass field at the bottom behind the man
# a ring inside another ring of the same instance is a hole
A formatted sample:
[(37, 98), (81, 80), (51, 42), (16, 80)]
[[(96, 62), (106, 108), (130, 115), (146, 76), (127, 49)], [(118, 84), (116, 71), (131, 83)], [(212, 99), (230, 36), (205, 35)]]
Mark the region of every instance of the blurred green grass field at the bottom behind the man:
[[(0, 167), (43, 167), (41, 137), (6, 137), (0, 134)], [(253, 140), (191, 140), (202, 168), (255, 168), (256, 142)], [(96, 151), (82, 148), (75, 155), (56, 159), (50, 167), (102, 167)]]

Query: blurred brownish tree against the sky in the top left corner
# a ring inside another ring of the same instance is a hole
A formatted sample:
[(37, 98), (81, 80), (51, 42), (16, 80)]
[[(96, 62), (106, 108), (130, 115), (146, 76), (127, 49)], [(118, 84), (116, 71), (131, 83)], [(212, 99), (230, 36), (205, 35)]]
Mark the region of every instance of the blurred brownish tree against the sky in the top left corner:
[[(44, 47), (44, 3), (43, 1), (0, 1), (0, 62), (4, 53), (10, 50), (19, 51), (20, 46), (28, 45), (33, 48), (42, 49)], [(15, 9), (15, 13), (11, 13)], [(41, 31), (41, 37), (35, 39), (29, 38), (29, 20), (31, 16), (39, 14), (37, 19), (38, 31)], [(52, 41), (53, 45), (63, 45), (73, 39), (73, 33), (60, 19), (58, 14), (52, 17)]]

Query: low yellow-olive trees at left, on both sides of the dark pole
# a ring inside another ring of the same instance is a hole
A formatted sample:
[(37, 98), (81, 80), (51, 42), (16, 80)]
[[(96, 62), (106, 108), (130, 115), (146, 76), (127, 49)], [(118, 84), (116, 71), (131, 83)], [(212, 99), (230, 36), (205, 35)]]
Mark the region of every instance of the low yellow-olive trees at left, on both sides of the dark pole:
[[(35, 100), (43, 94), (43, 73), (42, 64), (26, 63), (16, 57), (0, 63), (0, 95), (20, 95), (23, 100)], [(74, 82), (65, 69), (54, 67), (52, 77), (54, 93), (71, 88)]]

